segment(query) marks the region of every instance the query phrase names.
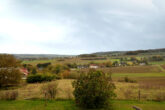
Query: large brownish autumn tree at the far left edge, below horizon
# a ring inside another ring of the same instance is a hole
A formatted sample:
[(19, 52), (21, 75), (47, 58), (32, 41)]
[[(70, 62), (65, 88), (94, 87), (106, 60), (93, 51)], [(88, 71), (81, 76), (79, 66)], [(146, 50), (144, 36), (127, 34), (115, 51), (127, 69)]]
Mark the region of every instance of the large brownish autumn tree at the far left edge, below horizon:
[(12, 55), (0, 55), (0, 86), (15, 86), (21, 81), (19, 61)]

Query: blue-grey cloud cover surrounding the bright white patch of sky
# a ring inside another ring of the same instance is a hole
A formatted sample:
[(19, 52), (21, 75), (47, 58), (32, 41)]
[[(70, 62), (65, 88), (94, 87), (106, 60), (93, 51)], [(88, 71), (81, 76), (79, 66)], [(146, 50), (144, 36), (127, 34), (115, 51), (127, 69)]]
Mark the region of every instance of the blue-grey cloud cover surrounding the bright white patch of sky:
[(25, 21), (60, 22), (76, 29), (63, 43), (38, 44), (52, 52), (165, 47), (162, 0), (13, 0), (13, 5), (13, 12)]

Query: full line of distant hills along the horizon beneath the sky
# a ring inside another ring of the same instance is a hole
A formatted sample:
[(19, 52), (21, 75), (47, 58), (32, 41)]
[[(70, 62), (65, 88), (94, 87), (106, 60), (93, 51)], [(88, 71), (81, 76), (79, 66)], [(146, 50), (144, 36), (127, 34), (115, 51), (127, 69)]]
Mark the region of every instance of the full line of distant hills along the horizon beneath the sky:
[[(76, 55), (57, 55), (57, 54), (13, 54), (18, 59), (52, 59), (59, 57), (75, 57)], [(80, 54), (78, 57), (98, 57), (98, 56), (122, 56), (122, 55), (163, 55), (165, 48), (134, 50), (134, 51), (107, 51), (96, 52), (91, 54)]]

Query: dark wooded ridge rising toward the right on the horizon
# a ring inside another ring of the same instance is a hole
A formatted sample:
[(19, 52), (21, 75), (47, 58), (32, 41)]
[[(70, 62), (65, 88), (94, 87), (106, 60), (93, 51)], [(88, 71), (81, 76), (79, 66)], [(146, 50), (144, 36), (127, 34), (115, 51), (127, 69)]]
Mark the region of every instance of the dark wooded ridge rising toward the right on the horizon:
[(165, 55), (165, 48), (161, 49), (148, 49), (148, 50), (135, 50), (135, 51), (108, 51), (96, 52), (92, 55), (98, 56), (121, 56), (121, 55)]

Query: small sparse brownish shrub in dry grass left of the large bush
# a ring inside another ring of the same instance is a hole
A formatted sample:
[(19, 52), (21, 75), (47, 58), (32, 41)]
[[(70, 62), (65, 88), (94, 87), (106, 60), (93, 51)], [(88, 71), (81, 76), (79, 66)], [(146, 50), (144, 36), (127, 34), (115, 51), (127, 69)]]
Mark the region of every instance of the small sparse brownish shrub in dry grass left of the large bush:
[(45, 99), (55, 99), (58, 89), (57, 89), (58, 83), (48, 83), (46, 85), (43, 85), (41, 87), (41, 92), (44, 95)]

